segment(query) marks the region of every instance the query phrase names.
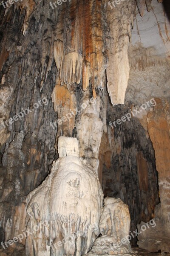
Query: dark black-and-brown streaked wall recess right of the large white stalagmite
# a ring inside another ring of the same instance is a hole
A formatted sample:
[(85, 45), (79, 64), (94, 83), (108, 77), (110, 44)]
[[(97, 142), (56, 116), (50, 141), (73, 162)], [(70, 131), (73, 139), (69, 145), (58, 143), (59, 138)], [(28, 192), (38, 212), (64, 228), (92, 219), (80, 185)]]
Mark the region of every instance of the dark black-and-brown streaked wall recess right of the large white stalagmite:
[[(114, 112), (108, 113), (108, 121), (121, 119), (129, 110), (130, 105), (116, 106)], [(121, 125), (116, 124), (116, 127), (113, 125), (113, 128), (110, 125), (102, 139), (104, 195), (121, 198), (128, 204), (130, 230), (136, 230), (137, 223), (153, 218), (155, 205), (159, 203), (153, 145), (136, 118)]]

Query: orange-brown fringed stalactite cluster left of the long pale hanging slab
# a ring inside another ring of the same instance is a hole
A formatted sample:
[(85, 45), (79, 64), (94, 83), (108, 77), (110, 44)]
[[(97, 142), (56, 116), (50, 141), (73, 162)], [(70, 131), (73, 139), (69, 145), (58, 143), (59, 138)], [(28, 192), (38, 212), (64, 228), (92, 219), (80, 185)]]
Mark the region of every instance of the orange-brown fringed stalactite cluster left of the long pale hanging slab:
[(95, 88), (104, 87), (103, 76), (106, 68), (103, 54), (102, 8), (102, 1), (93, 0), (88, 5), (76, 0), (72, 1), (68, 17), (65, 17), (70, 32), (66, 32), (63, 36), (63, 44), (56, 36), (54, 45), (54, 56), (57, 69), (60, 70), (61, 84), (71, 85), (75, 82), (79, 84), (82, 76), (82, 89), (87, 90), (91, 83), (94, 97), (96, 97)]

